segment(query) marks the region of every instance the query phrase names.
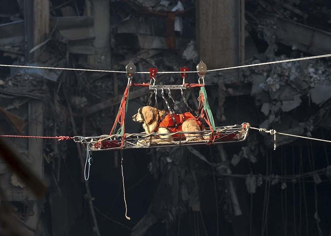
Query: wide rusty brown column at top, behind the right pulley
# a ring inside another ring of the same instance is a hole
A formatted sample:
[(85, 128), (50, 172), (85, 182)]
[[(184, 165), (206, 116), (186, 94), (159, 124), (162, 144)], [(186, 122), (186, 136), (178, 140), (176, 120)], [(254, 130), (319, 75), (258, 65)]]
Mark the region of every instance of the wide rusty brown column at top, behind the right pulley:
[(208, 69), (237, 66), (244, 60), (244, 0), (197, 0), (197, 45)]

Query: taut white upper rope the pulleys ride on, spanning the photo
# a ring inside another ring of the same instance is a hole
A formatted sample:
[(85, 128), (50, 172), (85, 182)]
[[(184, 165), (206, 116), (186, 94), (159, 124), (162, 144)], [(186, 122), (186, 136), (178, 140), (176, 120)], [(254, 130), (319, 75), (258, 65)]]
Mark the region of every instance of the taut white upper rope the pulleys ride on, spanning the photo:
[[(230, 69), (238, 69), (238, 68), (245, 68), (245, 67), (254, 67), (254, 66), (263, 66), (263, 65), (270, 65), (276, 63), (283, 63), (283, 62), (295, 62), (295, 61), (302, 61), (302, 60), (309, 60), (309, 59), (316, 59), (316, 58), (324, 58), (324, 57), (331, 57), (331, 54), (319, 55), (319, 56), (312, 56), (312, 57), (302, 57), (302, 58), (295, 58), (295, 59), (287, 59), (281, 61), (274, 61), (274, 62), (263, 62), (258, 64), (249, 64), (249, 65), (242, 65), (242, 66), (235, 66), (235, 67), (226, 67), (214, 70), (207, 70), (207, 72), (212, 71), (224, 71)], [(109, 72), (109, 73), (126, 73), (126, 71), (108, 71), (108, 70), (92, 70), (92, 69), (75, 69), (75, 68), (57, 68), (57, 67), (37, 67), (37, 66), (19, 66), (19, 65), (4, 65), (0, 64), (0, 67), (21, 67), (21, 68), (37, 68), (37, 69), (53, 69), (53, 70), (68, 70), (68, 71), (94, 71), (94, 72)], [(185, 73), (198, 73), (199, 71), (185, 71)], [(135, 72), (137, 74), (149, 74), (148, 71), (142, 72)], [(182, 73), (181, 71), (161, 71), (158, 74), (171, 74), (171, 73)]]

